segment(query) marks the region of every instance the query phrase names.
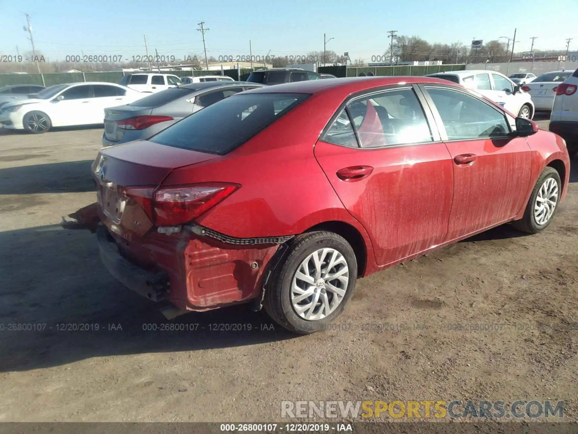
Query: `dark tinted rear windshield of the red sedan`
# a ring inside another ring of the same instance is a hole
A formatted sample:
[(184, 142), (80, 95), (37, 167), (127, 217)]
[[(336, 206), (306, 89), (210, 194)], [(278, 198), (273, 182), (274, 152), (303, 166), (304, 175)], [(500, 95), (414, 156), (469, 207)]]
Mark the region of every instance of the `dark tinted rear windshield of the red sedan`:
[(210, 105), (150, 139), (175, 148), (225, 155), (305, 101), (309, 94), (239, 94)]

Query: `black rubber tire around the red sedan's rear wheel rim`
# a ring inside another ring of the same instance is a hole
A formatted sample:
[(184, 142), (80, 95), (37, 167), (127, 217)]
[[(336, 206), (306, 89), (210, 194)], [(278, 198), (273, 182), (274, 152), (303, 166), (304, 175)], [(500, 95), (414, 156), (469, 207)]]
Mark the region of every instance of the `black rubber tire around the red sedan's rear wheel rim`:
[[(303, 260), (321, 248), (333, 248), (343, 255), (349, 268), (349, 281), (342, 301), (327, 317), (308, 321), (299, 317), (291, 304), (291, 285), (294, 274)], [(357, 259), (355, 253), (343, 237), (328, 231), (316, 231), (302, 234), (288, 241), (277, 266), (272, 270), (265, 287), (264, 307), (269, 316), (287, 330), (298, 334), (309, 334), (324, 330), (329, 323), (343, 312), (355, 288), (357, 281)]]

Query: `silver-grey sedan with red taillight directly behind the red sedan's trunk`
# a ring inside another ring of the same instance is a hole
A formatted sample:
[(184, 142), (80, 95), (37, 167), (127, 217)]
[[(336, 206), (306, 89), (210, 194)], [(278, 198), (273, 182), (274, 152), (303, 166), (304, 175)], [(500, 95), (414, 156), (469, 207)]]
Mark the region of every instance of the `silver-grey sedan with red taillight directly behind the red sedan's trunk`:
[(102, 145), (147, 139), (191, 113), (244, 90), (264, 84), (205, 82), (185, 84), (149, 95), (127, 105), (105, 110)]

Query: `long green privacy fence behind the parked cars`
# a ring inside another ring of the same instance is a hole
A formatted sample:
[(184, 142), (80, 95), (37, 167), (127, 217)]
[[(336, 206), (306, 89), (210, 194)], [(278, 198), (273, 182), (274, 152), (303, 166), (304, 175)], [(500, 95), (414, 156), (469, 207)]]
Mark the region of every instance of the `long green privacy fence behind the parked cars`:
[[(436, 72), (445, 71), (464, 71), (466, 65), (397, 65), (391, 67), (320, 67), (319, 72), (333, 74), (336, 77), (358, 77), (361, 73), (378, 77), (385, 76), (400, 76), (400, 75), (426, 75)], [(149, 72), (149, 71), (142, 71)], [(153, 71), (154, 73), (155, 71)], [(251, 68), (240, 69), (240, 77), (237, 76), (236, 69), (224, 69), (223, 73), (234, 79), (242, 81), (249, 77), (253, 72)], [(129, 74), (130, 72), (125, 72)], [(135, 72), (136, 73), (136, 72)], [(203, 75), (220, 75), (221, 71), (161, 71), (161, 73), (169, 73), (179, 77), (186, 76), (203, 76)], [(49, 73), (49, 74), (0, 74), (0, 87), (8, 86), (10, 84), (44, 84), (45, 86), (53, 86), (53, 84), (75, 83), (75, 82), (106, 82), (118, 83), (123, 78), (123, 72), (108, 71), (108, 72), (85, 72), (83, 73)]]

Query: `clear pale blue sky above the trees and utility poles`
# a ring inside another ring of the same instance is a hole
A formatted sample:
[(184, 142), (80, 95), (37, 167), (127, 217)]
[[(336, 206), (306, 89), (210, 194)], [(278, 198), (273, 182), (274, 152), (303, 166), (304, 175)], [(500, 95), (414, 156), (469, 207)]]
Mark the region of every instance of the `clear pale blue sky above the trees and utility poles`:
[[(218, 6), (217, 6), (218, 5)], [(298, 55), (323, 50), (323, 34), (334, 38), (327, 49), (349, 52), (351, 59), (382, 54), (387, 31), (418, 35), (429, 42), (465, 44), (513, 37), (517, 47), (562, 49), (574, 38), (578, 50), (578, 1), (445, 0), (291, 0), (265, 2), (99, 0), (0, 0), (0, 53), (30, 50), (24, 13), (32, 17), (36, 49), (50, 60), (69, 54), (144, 54), (149, 50), (183, 57), (202, 53), (197, 23), (205, 21), (209, 56), (249, 54)], [(517, 50), (516, 50), (517, 51)]]

